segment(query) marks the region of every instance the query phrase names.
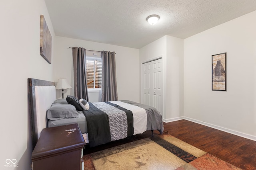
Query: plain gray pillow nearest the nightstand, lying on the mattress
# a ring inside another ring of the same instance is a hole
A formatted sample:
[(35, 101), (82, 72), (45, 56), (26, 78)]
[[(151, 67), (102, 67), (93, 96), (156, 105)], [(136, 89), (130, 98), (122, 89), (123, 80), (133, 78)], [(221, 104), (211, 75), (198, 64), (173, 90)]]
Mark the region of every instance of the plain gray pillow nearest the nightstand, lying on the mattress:
[(47, 110), (47, 118), (50, 120), (58, 120), (64, 118), (78, 118), (76, 107), (71, 104), (52, 104)]

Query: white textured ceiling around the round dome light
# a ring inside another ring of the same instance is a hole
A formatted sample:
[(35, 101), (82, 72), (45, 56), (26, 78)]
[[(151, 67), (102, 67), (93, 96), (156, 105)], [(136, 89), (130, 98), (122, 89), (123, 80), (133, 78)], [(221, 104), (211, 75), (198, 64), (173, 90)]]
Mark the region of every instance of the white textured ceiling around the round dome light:
[[(141, 48), (187, 38), (256, 10), (256, 0), (45, 0), (55, 35)], [(157, 14), (150, 25), (146, 18)]]

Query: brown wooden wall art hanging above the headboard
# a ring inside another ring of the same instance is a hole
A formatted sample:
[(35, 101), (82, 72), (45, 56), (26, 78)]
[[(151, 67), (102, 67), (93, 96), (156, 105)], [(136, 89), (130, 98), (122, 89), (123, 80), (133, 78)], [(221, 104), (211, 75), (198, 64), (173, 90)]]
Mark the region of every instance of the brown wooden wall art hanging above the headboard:
[(52, 63), (52, 35), (43, 15), (40, 15), (40, 55)]

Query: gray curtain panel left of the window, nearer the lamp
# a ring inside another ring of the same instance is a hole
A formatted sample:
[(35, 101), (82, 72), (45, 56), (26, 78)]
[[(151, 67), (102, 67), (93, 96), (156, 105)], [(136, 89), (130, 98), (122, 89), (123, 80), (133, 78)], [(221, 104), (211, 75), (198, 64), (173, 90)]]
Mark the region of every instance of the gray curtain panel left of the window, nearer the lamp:
[(86, 80), (86, 50), (81, 47), (73, 47), (74, 64), (74, 96), (83, 98), (89, 102)]

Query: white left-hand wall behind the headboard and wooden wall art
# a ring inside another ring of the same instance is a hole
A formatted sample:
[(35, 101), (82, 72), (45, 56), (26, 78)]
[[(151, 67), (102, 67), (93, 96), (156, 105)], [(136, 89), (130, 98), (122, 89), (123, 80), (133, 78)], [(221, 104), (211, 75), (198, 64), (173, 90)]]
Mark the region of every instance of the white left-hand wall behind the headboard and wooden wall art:
[[(49, 64), (40, 55), (40, 14), (44, 15), (54, 43), (44, 0), (8, 0), (0, 6), (0, 169), (30, 169), (32, 139), (27, 79), (54, 80), (54, 61)], [(14, 168), (12, 163), (8, 164), (11, 167), (5, 167), (6, 159), (16, 159), (18, 167)]]

